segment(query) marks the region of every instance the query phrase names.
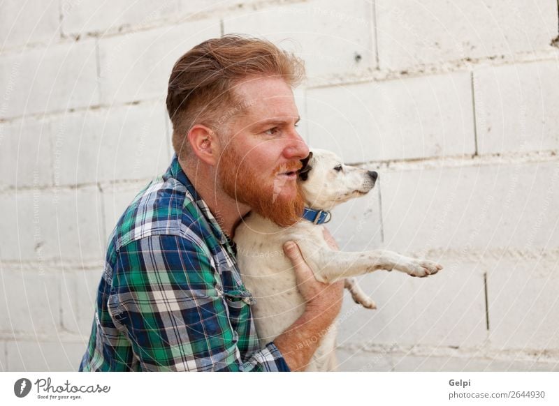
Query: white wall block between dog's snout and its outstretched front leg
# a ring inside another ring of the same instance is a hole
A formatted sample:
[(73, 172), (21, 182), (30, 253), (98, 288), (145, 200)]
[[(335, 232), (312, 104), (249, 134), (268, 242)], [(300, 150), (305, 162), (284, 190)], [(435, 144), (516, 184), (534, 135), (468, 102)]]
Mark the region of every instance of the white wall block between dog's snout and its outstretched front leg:
[(379, 189), (335, 207), (327, 225), (340, 250), (363, 251), (382, 243)]

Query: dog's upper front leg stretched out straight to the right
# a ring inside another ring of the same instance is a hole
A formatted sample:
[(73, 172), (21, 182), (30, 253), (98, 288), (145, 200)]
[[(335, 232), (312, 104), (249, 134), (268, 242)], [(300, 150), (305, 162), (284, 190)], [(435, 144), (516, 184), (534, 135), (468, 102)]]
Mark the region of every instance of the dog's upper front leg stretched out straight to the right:
[(410, 276), (433, 275), (442, 269), (440, 264), (429, 260), (416, 260), (387, 250), (372, 250), (364, 253), (333, 251), (326, 246), (300, 243), (301, 253), (314, 271), (317, 280), (333, 283), (341, 278), (363, 275), (379, 269), (405, 272)]

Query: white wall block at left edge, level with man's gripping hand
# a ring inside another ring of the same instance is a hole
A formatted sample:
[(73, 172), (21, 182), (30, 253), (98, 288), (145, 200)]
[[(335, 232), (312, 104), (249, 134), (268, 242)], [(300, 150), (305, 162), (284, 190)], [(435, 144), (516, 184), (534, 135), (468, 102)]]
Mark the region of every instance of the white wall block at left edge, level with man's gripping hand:
[(60, 326), (60, 282), (56, 275), (35, 269), (2, 267), (1, 292), (6, 310), (0, 313), (5, 333), (56, 333)]

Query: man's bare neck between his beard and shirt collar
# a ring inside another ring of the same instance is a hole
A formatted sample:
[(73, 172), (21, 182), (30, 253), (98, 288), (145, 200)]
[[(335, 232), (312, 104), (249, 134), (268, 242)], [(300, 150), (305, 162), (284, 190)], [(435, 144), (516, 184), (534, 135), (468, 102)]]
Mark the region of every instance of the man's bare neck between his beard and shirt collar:
[(196, 189), (196, 193), (208, 205), (219, 227), (232, 239), (235, 227), (240, 219), (250, 211), (250, 207), (237, 202), (222, 190), (213, 167), (203, 164), (188, 165), (181, 161), (179, 164)]

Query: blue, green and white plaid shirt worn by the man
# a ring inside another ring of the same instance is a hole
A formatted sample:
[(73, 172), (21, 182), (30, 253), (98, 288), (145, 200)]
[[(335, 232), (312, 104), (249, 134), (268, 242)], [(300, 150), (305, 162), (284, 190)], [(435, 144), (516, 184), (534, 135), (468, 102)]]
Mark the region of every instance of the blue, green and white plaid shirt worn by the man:
[(286, 371), (262, 349), (229, 243), (177, 157), (113, 230), (80, 370)]

